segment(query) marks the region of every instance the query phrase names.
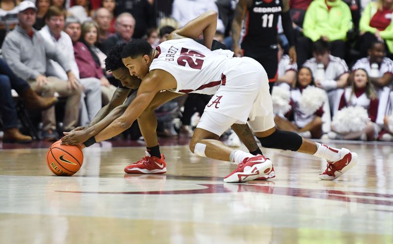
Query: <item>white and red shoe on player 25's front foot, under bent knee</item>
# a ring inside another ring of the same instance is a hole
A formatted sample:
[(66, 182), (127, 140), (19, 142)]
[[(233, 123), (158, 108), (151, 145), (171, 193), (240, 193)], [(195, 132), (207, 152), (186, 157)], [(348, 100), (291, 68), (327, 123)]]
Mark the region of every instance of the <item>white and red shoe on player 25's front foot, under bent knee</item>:
[(252, 181), (271, 172), (272, 168), (272, 161), (266, 159), (263, 155), (245, 158), (232, 173), (224, 177), (224, 182), (241, 183)]

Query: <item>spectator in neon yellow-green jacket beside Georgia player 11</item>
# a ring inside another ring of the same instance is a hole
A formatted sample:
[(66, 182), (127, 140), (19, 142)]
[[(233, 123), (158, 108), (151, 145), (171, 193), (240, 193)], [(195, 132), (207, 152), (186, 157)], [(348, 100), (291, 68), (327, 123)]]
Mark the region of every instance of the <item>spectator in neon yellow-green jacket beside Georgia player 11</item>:
[(312, 42), (322, 38), (331, 42), (331, 54), (344, 58), (345, 40), (348, 30), (352, 29), (351, 10), (342, 0), (314, 0), (309, 5), (303, 22), (305, 37), (298, 39), (296, 52), (302, 65), (311, 56)]

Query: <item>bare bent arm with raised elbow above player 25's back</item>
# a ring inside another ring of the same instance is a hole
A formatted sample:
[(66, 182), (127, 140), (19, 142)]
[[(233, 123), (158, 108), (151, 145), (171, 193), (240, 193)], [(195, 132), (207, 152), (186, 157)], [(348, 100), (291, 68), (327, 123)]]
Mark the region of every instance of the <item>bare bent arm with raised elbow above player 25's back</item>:
[(218, 13), (216, 11), (207, 11), (188, 22), (184, 27), (174, 30), (169, 34), (168, 40), (184, 37), (197, 39), (203, 33), (203, 45), (211, 49), (213, 37), (217, 29), (217, 16)]

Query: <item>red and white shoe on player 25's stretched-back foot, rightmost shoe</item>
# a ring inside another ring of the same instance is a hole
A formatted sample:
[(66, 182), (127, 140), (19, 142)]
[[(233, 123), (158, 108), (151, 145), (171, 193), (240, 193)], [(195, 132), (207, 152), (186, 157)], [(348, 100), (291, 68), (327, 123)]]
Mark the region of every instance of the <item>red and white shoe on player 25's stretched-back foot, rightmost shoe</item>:
[(358, 162), (358, 154), (346, 148), (341, 149), (341, 157), (337, 161), (328, 161), (325, 172), (319, 175), (321, 180), (335, 180), (350, 170)]

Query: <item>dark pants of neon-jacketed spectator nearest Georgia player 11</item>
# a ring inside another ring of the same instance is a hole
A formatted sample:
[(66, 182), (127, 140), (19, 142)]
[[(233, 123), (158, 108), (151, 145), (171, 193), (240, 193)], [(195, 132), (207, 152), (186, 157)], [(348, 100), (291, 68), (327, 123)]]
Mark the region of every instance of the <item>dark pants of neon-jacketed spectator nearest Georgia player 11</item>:
[[(343, 40), (330, 42), (330, 54), (344, 59), (345, 42)], [(302, 67), (303, 63), (312, 57), (312, 41), (310, 38), (302, 36), (297, 39), (296, 55), (298, 67)]]

